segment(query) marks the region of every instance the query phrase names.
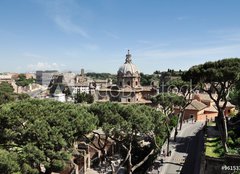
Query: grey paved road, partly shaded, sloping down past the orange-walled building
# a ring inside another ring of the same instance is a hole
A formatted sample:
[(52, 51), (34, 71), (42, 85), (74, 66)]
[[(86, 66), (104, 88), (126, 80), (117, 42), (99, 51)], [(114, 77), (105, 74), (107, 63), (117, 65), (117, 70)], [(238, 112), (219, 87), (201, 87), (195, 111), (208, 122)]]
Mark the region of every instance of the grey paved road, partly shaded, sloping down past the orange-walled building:
[[(192, 149), (197, 150), (197, 143), (193, 142), (195, 142), (195, 140), (198, 139), (196, 138), (196, 133), (198, 133), (199, 130), (201, 130), (203, 124), (204, 122), (184, 123), (182, 130), (178, 132), (177, 142), (173, 141), (174, 131), (172, 131), (170, 140), (170, 150), (172, 152), (172, 155), (169, 157), (164, 157), (162, 154), (159, 155), (154, 163), (152, 170), (149, 171), (149, 173), (151, 174), (180, 173), (185, 163), (185, 160), (189, 155), (189, 152), (192, 151)], [(167, 144), (165, 143), (162, 149), (166, 149), (166, 147)], [(161, 163), (161, 159), (163, 159), (163, 164)], [(191, 167), (193, 167), (194, 170), (195, 166)]]

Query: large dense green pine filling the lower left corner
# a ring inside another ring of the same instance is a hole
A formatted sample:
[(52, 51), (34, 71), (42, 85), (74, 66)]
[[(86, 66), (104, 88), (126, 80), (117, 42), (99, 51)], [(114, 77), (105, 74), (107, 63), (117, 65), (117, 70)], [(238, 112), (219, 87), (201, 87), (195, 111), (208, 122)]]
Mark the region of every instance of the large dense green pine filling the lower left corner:
[(73, 143), (95, 129), (96, 117), (84, 107), (51, 100), (2, 105), (0, 145), (16, 153), (22, 173), (61, 171), (71, 159)]

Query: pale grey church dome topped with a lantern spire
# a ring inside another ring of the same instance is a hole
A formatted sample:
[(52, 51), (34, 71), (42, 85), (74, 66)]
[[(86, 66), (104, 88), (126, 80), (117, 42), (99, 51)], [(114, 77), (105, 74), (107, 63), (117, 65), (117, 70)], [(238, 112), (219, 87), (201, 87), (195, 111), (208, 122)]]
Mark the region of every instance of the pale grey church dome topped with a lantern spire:
[(118, 75), (138, 75), (139, 71), (132, 63), (132, 55), (129, 53), (126, 55), (125, 63), (118, 69)]

